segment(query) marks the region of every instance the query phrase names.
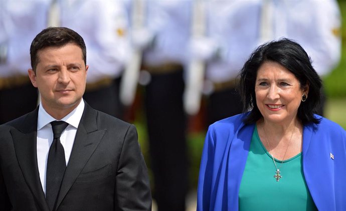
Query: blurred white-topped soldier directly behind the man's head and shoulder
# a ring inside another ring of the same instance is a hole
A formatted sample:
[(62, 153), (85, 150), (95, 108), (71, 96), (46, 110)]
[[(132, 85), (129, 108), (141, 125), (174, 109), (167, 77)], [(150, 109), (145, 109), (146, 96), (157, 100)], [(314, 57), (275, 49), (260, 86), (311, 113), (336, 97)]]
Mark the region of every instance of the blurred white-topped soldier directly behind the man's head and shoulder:
[(95, 109), (123, 116), (119, 83), (129, 48), (127, 16), (122, 1), (57, 0), (59, 24), (72, 28), (85, 40), (88, 73), (84, 99)]

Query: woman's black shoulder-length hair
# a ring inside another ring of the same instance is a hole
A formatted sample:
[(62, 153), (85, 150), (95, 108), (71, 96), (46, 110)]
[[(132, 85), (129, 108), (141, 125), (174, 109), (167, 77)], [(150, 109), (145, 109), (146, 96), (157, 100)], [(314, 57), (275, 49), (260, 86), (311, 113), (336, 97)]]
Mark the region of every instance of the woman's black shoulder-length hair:
[(299, 80), (301, 88), (309, 86), (308, 97), (306, 101), (300, 103), (297, 117), (303, 124), (319, 123), (320, 118), (316, 118), (314, 112), (321, 100), (322, 81), (312, 67), (310, 57), (305, 50), (297, 42), (287, 38), (260, 45), (251, 53), (240, 70), (239, 92), (244, 103), (244, 111), (251, 110), (244, 122), (255, 123), (262, 118), (256, 104), (255, 82), (257, 70), (265, 61), (277, 62), (284, 66)]

